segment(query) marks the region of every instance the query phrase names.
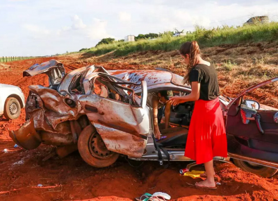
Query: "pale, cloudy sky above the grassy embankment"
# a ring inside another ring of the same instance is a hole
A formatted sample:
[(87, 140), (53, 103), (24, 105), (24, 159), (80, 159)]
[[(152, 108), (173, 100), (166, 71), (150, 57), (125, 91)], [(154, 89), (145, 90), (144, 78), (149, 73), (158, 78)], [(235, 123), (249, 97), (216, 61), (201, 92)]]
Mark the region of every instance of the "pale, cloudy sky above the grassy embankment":
[(1, 0), (0, 57), (79, 51), (102, 38), (278, 20), (278, 0)]

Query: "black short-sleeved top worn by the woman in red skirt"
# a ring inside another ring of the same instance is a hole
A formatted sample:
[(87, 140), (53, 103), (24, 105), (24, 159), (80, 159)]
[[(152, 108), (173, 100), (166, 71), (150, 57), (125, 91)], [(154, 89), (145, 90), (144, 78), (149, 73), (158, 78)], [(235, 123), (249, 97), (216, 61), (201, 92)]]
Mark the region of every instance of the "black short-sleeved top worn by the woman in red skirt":
[(200, 83), (199, 99), (214, 100), (220, 96), (218, 75), (213, 64), (197, 64), (189, 73), (189, 81)]

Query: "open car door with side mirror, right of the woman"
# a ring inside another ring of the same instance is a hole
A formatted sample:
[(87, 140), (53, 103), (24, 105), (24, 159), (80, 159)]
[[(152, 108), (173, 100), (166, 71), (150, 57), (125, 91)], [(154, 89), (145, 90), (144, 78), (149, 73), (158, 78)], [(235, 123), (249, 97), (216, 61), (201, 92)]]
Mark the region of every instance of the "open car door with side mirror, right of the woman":
[(227, 106), (226, 132), (231, 157), (278, 167), (278, 109), (263, 109), (254, 100), (244, 100), (247, 92), (277, 82), (278, 78), (273, 78), (250, 87)]

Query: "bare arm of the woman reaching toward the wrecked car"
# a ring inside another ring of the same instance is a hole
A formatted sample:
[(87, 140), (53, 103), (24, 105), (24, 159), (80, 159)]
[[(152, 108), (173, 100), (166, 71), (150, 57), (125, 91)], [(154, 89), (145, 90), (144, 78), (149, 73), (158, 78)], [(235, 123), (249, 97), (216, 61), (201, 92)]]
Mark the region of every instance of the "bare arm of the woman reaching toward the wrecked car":
[(179, 105), (180, 103), (199, 100), (200, 93), (200, 83), (192, 82), (191, 83), (191, 93), (186, 96), (173, 96), (170, 97), (172, 105)]

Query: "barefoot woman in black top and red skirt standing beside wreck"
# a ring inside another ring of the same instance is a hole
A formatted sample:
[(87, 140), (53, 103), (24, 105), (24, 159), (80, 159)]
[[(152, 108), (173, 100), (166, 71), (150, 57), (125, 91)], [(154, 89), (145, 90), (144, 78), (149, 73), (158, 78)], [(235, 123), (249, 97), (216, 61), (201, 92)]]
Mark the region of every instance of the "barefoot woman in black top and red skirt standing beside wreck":
[(188, 64), (183, 82), (191, 85), (191, 94), (170, 98), (172, 105), (195, 101), (190, 121), (185, 156), (204, 164), (206, 180), (195, 186), (216, 189), (213, 157), (227, 157), (227, 137), (218, 96), (218, 77), (213, 64), (200, 56), (196, 41), (186, 42), (179, 49)]

